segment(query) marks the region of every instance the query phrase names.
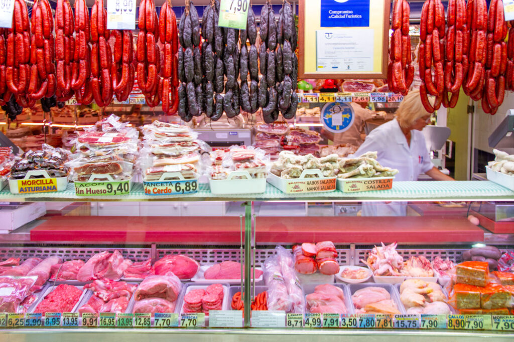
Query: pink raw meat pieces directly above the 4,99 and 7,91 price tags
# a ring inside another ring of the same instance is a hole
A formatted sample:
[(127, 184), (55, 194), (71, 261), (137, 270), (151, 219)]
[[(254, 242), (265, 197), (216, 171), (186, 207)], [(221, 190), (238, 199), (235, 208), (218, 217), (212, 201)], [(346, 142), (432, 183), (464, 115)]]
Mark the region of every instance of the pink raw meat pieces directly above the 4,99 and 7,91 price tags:
[(306, 301), (311, 313), (347, 313), (343, 290), (331, 284), (318, 285), (306, 296)]

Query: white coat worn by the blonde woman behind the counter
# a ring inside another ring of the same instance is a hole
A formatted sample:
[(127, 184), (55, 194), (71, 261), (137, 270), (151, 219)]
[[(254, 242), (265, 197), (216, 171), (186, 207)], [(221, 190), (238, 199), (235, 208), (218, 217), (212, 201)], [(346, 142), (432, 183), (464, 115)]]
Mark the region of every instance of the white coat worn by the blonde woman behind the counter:
[[(432, 169), (425, 137), (418, 130), (411, 130), (411, 144), (403, 135), (396, 119), (391, 120), (371, 131), (364, 143), (356, 151), (358, 157), (369, 151), (377, 151), (377, 160), (383, 166), (397, 168), (394, 181), (416, 181), (420, 174)], [(405, 216), (406, 202), (362, 203), (363, 216)]]

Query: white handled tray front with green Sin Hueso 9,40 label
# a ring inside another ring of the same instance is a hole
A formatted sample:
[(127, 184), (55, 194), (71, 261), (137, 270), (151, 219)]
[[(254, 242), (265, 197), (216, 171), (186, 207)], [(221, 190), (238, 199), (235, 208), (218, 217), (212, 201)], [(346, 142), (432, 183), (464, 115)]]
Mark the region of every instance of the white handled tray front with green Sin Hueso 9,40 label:
[[(104, 181), (107, 179), (107, 181)], [(132, 188), (132, 180), (114, 180), (111, 175), (91, 175), (87, 182), (75, 182), (77, 196), (119, 196), (127, 195)]]

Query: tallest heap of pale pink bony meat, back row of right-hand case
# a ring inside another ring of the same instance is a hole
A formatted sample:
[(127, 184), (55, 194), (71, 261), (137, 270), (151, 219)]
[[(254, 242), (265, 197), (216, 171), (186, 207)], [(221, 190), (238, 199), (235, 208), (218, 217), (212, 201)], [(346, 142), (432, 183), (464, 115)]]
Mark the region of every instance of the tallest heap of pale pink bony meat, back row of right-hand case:
[(375, 246), (366, 260), (361, 261), (368, 265), (376, 276), (401, 276), (403, 268), (403, 257), (396, 252), (397, 243), (393, 242), (387, 246)]

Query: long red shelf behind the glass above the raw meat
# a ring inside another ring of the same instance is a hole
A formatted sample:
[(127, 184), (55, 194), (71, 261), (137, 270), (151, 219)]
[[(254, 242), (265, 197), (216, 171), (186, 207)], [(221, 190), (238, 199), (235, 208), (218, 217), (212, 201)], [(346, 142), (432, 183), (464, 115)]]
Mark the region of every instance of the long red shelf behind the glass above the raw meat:
[[(30, 232), (31, 241), (80, 243), (239, 244), (239, 217), (55, 216)], [(484, 241), (465, 218), (258, 217), (258, 243), (331, 240), (336, 244)]]

